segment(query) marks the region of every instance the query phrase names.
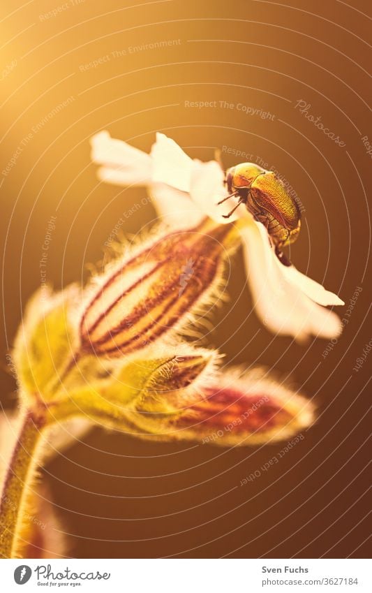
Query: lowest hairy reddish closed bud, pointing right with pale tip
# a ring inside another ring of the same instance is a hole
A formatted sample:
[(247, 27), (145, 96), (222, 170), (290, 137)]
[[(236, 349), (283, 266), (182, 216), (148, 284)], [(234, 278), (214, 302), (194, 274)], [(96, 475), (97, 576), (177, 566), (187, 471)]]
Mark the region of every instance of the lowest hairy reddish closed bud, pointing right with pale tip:
[(211, 376), (193, 397), (169, 394), (168, 402), (168, 413), (129, 414), (137, 436), (244, 446), (289, 439), (314, 420), (311, 402), (258, 371)]

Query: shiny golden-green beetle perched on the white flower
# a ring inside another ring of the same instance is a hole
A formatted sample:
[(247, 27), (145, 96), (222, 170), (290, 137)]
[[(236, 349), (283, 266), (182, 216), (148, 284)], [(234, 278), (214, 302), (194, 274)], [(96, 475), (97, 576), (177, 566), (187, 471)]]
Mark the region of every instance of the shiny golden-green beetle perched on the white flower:
[(278, 258), (284, 265), (290, 265), (281, 249), (297, 239), (301, 211), (282, 180), (273, 171), (254, 163), (241, 163), (228, 169), (225, 183), (230, 195), (218, 204), (232, 196), (239, 196), (239, 200), (224, 218), (229, 218), (240, 204), (245, 204), (254, 219), (267, 228)]

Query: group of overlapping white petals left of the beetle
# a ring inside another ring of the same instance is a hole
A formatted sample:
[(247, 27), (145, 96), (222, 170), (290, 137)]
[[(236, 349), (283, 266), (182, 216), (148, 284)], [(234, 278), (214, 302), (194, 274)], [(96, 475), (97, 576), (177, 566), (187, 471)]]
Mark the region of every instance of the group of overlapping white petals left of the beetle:
[(236, 200), (230, 198), (217, 205), (228, 196), (221, 166), (216, 161), (191, 159), (165, 134), (156, 134), (150, 154), (110, 138), (106, 131), (91, 138), (91, 147), (92, 160), (101, 165), (98, 177), (102, 181), (147, 186), (158, 214), (171, 226), (198, 224), (206, 214), (221, 224), (239, 217), (251, 218), (243, 205), (228, 220), (223, 218)]

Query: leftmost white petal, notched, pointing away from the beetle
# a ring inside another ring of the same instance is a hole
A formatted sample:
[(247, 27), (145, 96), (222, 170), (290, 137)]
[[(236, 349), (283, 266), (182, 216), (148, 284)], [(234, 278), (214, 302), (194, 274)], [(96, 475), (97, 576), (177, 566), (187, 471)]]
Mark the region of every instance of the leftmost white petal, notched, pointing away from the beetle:
[(91, 159), (98, 165), (102, 180), (119, 185), (147, 185), (151, 181), (149, 154), (122, 140), (111, 138), (107, 131), (91, 138)]

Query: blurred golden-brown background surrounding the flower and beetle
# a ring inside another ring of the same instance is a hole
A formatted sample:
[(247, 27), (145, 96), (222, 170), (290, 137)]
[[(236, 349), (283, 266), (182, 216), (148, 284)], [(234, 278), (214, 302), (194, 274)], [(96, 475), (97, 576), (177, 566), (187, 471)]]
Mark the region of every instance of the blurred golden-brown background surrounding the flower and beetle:
[(52, 217), (54, 288), (89, 277), (121, 217), (129, 234), (155, 219), (149, 203), (128, 215), (143, 189), (98, 182), (89, 138), (102, 129), (146, 151), (162, 131), (202, 160), (219, 148), (226, 167), (241, 151), (276, 168), (304, 207), (293, 263), (345, 300), (341, 317), (352, 300), (332, 343), (274, 337), (237, 256), (209, 342), (228, 363), (288, 377), (318, 423), (242, 487), (285, 443), (225, 450), (95, 429), (45, 470), (68, 555), (368, 556), (370, 360), (354, 367), (371, 340), (371, 3), (3, 0), (0, 22), (4, 408), (15, 406), (6, 355), (43, 281)]

